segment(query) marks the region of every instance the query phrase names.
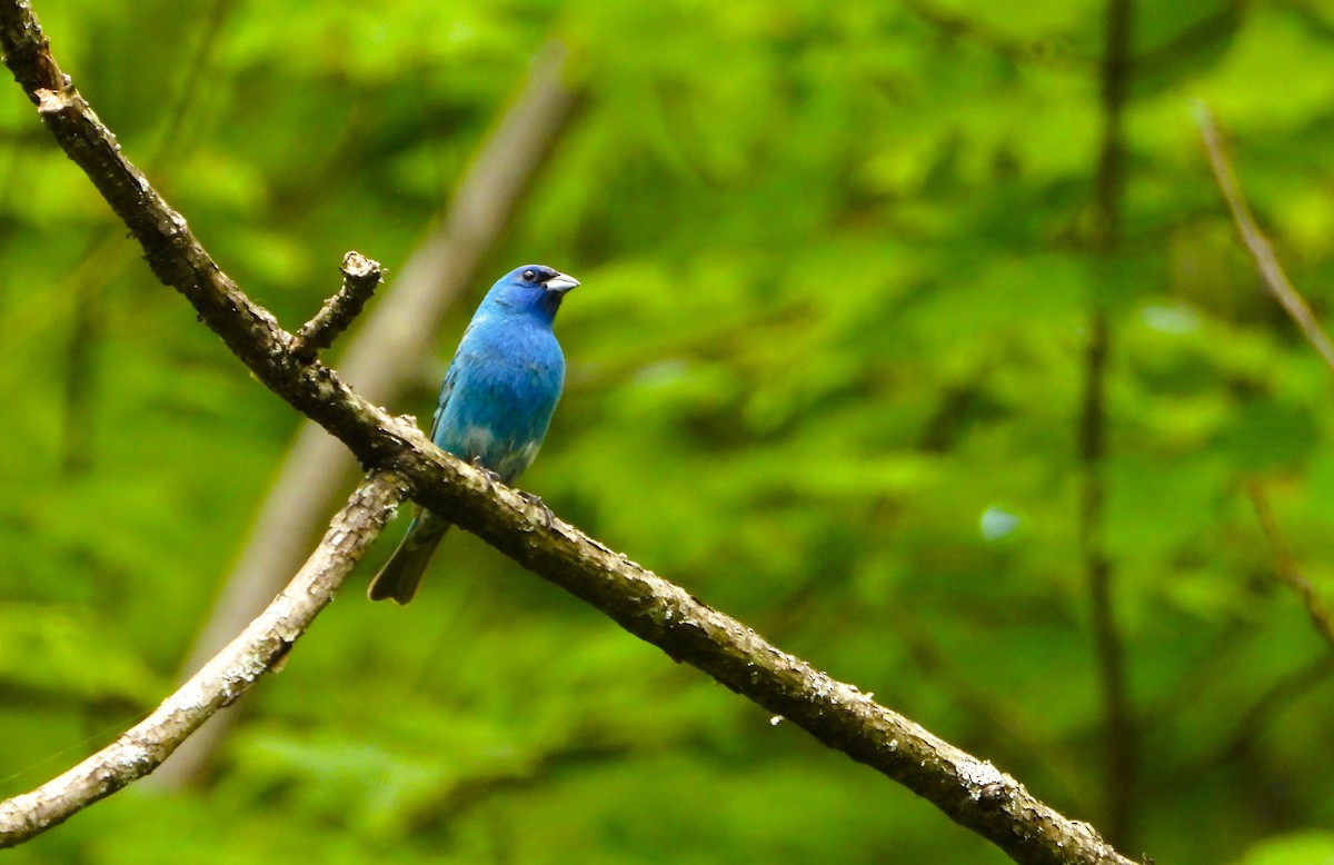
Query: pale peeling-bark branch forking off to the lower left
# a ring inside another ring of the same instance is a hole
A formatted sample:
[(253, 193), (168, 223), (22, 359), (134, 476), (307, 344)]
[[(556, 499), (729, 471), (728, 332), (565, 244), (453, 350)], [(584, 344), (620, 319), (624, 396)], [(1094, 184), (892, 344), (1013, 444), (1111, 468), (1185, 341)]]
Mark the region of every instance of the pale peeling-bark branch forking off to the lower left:
[(73, 769), (0, 802), (0, 848), (21, 844), (147, 776), (215, 711), (273, 670), (334, 599), (406, 493), (396, 475), (368, 478), (287, 589), (156, 711)]

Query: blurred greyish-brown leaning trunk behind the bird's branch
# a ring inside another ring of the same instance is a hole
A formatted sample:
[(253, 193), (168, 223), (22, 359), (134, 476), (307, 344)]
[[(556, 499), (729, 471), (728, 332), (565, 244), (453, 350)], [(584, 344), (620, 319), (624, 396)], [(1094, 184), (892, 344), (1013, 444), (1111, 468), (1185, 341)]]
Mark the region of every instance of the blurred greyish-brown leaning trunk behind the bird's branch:
[[(446, 312), (480, 278), (487, 254), (504, 235), (538, 170), (571, 117), (564, 49), (548, 44), (514, 103), (483, 143), (439, 224), (404, 263), (394, 291), (371, 307), (339, 360), (339, 372), (379, 404), (392, 406), (435, 352)], [(191, 675), (259, 614), (304, 561), (329, 509), (356, 475), (356, 461), (317, 424), (301, 424), (255, 527), (227, 577), (213, 611), (191, 647)], [(201, 780), (236, 711), (213, 717), (191, 737), (153, 782), (180, 788)]]

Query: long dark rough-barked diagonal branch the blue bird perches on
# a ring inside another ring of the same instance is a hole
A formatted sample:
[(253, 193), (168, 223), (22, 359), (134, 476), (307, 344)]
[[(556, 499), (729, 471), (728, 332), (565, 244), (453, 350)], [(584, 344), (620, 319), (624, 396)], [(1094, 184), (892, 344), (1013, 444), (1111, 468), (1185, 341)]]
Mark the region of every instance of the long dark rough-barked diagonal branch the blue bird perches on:
[[(0, 0), (0, 48), (56, 140), (144, 247), (159, 279), (191, 302), (260, 382), (334, 432), (364, 465), (402, 474), (426, 507), (670, 657), (894, 778), (1014, 860), (1131, 864), (1093, 826), (1057, 813), (990, 762), (780, 651), (574, 526), (559, 519), (548, 525), (543, 506), (442, 453), (419, 430), (354, 394), (319, 362), (295, 358), (291, 335), (221, 272), (185, 220), (121, 156), (115, 139), (60, 73), (28, 3)], [(136, 742), (128, 757), (137, 761), (145, 746)], [(96, 780), (92, 784), (97, 794), (109, 793), (99, 790)]]

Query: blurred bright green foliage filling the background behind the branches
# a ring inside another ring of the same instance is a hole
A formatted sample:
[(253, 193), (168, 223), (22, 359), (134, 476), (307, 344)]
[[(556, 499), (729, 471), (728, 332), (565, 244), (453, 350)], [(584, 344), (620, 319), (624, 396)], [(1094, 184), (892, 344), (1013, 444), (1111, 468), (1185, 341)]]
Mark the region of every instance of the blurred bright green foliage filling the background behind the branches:
[[(1109, 812), (1078, 546), (1107, 310), (1131, 857), (1334, 856), (1334, 674), (1249, 485), (1326, 598), (1331, 376), (1263, 295), (1198, 144), (1318, 310), (1334, 12), (1135, 3), (1122, 231), (1095, 252), (1089, 0), (37, 3), (57, 56), (289, 327), (392, 274), (548, 37), (580, 113), (490, 272), (575, 274), (524, 487), (780, 646)], [(157, 286), (0, 93), (0, 794), (172, 687), (297, 418)], [(486, 280), (488, 282), (488, 280)], [(475, 294), (423, 370), (430, 412)], [(136, 786), (15, 862), (1000, 862), (884, 778), (475, 539), (406, 610), (362, 577), (196, 792)]]

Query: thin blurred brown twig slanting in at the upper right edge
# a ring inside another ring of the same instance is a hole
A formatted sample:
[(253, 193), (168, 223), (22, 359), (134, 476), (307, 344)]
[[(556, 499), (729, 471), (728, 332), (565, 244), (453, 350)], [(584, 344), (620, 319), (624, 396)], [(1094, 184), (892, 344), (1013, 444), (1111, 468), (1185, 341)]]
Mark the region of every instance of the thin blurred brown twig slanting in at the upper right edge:
[(1330, 338), (1325, 335), (1319, 320), (1311, 312), (1311, 307), (1307, 306), (1306, 300), (1287, 279), (1287, 274), (1283, 272), (1283, 266), (1278, 263), (1278, 256), (1274, 254), (1274, 247), (1270, 244), (1269, 238), (1255, 224), (1255, 218), (1251, 216), (1250, 206), (1246, 203), (1246, 196), (1237, 182), (1237, 172), (1233, 171), (1231, 159), (1227, 156), (1223, 135), (1218, 131), (1218, 124), (1214, 123), (1214, 115), (1209, 111), (1209, 105), (1202, 101), (1194, 104), (1194, 111), (1199, 136), (1203, 139), (1205, 150), (1209, 152), (1209, 164), (1214, 168), (1214, 179), (1218, 182), (1218, 188), (1227, 202), (1227, 208), (1233, 212), (1233, 222), (1237, 223), (1237, 231), (1242, 236), (1242, 243), (1246, 244), (1246, 248), (1250, 250), (1251, 256), (1255, 259), (1255, 267), (1259, 270), (1265, 286), (1274, 295), (1274, 299), (1278, 300), (1279, 306), (1283, 307), (1283, 311), (1287, 312), (1287, 316), (1301, 328), (1302, 335), (1306, 336), (1306, 342), (1311, 343), (1311, 347), (1319, 352), (1326, 366), (1334, 371), (1334, 343), (1330, 343)]

